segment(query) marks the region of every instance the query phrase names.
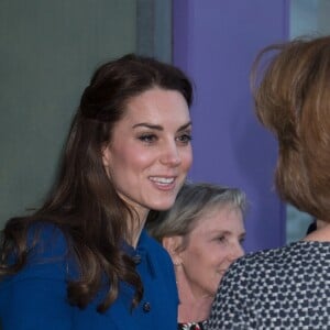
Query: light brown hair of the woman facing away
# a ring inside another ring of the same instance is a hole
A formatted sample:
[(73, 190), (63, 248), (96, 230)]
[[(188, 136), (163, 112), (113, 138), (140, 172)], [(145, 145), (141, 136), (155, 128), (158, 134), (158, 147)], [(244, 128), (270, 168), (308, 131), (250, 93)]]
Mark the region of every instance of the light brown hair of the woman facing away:
[(329, 219), (330, 36), (265, 47), (251, 78), (256, 116), (278, 140), (279, 196), (301, 211)]

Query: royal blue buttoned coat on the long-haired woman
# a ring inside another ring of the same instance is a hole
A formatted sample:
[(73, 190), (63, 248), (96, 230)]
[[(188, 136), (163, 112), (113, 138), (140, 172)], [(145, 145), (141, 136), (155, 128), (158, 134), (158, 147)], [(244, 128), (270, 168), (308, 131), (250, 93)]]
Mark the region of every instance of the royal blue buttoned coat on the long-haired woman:
[(178, 296), (167, 252), (142, 232), (138, 248), (127, 246), (141, 257), (136, 266), (144, 295), (131, 312), (133, 288), (120, 284), (120, 295), (103, 314), (96, 307), (99, 293), (85, 309), (67, 302), (66, 280), (72, 265), (59, 230), (43, 228), (40, 243), (29, 263), (16, 275), (0, 283), (0, 318), (3, 330), (175, 330)]

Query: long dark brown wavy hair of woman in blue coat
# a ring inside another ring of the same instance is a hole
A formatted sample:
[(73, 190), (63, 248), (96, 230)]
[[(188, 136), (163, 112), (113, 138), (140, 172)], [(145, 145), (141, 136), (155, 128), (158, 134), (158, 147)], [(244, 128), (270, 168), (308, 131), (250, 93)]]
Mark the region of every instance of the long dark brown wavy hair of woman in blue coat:
[[(122, 241), (130, 238), (128, 222), (134, 211), (109, 179), (102, 147), (111, 142), (113, 127), (124, 116), (128, 101), (154, 87), (176, 90), (188, 107), (191, 105), (193, 87), (187, 76), (156, 59), (130, 54), (95, 72), (81, 96), (47, 200), (34, 215), (9, 220), (2, 232), (0, 276), (16, 273), (25, 265), (31, 226), (48, 222), (62, 230), (69, 254), (77, 261), (79, 278), (68, 282), (70, 304), (84, 308), (107, 278), (109, 290), (99, 311), (117, 299), (120, 280), (135, 287), (132, 307), (136, 306), (143, 285), (135, 264), (121, 250)], [(12, 255), (15, 263), (9, 262)]]

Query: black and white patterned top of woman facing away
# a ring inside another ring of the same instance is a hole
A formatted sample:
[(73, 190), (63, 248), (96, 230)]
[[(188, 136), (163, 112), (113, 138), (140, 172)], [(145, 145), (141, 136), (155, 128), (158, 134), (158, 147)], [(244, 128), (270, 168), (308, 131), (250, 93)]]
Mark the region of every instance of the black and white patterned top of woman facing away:
[(330, 242), (296, 242), (238, 260), (207, 329), (329, 330)]

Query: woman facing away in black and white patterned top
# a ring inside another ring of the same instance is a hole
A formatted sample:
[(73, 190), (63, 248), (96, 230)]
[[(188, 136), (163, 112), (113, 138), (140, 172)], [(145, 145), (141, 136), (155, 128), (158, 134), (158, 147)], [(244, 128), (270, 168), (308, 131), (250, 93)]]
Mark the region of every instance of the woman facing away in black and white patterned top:
[(208, 329), (329, 329), (330, 36), (266, 47), (252, 81), (256, 116), (278, 141), (277, 191), (322, 226), (301, 241), (235, 262)]

